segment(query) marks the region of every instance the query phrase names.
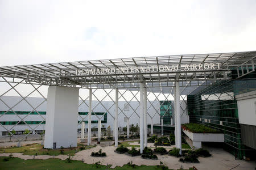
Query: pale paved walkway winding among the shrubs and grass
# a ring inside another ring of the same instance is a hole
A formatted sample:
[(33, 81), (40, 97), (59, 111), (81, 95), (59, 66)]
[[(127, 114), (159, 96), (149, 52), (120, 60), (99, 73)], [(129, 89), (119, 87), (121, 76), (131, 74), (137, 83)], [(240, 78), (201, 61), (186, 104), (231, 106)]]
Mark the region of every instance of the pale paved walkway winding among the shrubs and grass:
[[(102, 152), (106, 152), (107, 157), (106, 158), (96, 158), (90, 156), (91, 152), (96, 152), (98, 150), (102, 149)], [(210, 153), (212, 154), (209, 158), (201, 158), (199, 157), (200, 163), (193, 164), (193, 163), (180, 163), (178, 160), (179, 158), (176, 158), (174, 156), (168, 156), (168, 155), (158, 155), (158, 160), (148, 160), (148, 159), (142, 159), (141, 156), (134, 156), (130, 157), (125, 154), (117, 154), (114, 152), (115, 147), (114, 146), (107, 146), (107, 147), (101, 147), (97, 146), (90, 150), (83, 150), (80, 152), (77, 152), (75, 156), (72, 157), (74, 160), (82, 160), (84, 159), (84, 163), (93, 164), (98, 161), (100, 161), (100, 164), (107, 165), (112, 164), (112, 168), (116, 166), (122, 166), (124, 164), (127, 164), (128, 162), (133, 161), (134, 164), (137, 165), (158, 165), (160, 161), (162, 161), (165, 165), (167, 165), (169, 168), (178, 169), (183, 166), (183, 168), (189, 168), (195, 166), (197, 169), (231, 169), (233, 167), (234, 170), (237, 169), (248, 169), (248, 170), (254, 170), (256, 167), (255, 162), (245, 162), (245, 160), (235, 160), (234, 156), (229, 154), (228, 152), (217, 149), (213, 150)], [(0, 154), (0, 156), (9, 156), (9, 153)], [(33, 159), (34, 156), (31, 155), (23, 155), (20, 153), (14, 153), (15, 157), (22, 158), (22, 159)], [(39, 155), (35, 156), (35, 159), (48, 159), (53, 158), (53, 156), (49, 155)], [(61, 160), (65, 160), (68, 158), (67, 155), (58, 155), (55, 156), (55, 158), (59, 158)]]

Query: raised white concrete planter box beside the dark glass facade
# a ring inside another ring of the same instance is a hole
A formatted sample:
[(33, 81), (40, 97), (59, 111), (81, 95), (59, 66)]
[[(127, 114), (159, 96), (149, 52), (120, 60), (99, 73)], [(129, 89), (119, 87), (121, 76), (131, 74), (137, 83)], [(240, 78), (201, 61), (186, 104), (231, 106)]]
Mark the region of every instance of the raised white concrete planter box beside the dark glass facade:
[(222, 133), (192, 133), (188, 130), (183, 130), (183, 132), (192, 140), (195, 148), (201, 148), (201, 142), (224, 142)]

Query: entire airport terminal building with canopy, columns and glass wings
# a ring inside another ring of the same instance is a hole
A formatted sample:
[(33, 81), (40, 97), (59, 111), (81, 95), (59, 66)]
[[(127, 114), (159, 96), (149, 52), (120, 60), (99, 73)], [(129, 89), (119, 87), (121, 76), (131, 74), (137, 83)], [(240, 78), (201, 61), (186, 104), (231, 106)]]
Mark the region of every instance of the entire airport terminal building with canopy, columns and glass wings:
[[(114, 130), (117, 145), (118, 128), (138, 124), (142, 151), (158, 127), (162, 134), (174, 129), (181, 148), (181, 125), (195, 122), (221, 131), (223, 148), (237, 158), (251, 157), (255, 62), (253, 51), (0, 67), (0, 135), (45, 130), (44, 146), (58, 148), (76, 146), (84, 129), (89, 145), (92, 129), (104, 125)], [(39, 97), (31, 97), (34, 92)]]

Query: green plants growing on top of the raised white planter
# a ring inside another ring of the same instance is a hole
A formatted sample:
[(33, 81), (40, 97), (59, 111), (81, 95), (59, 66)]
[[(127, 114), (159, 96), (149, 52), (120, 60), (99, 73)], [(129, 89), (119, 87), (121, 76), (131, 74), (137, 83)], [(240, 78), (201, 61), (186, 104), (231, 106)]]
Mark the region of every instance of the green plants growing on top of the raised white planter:
[(200, 125), (200, 124), (184, 124), (181, 126), (183, 130), (191, 131), (192, 133), (220, 133), (217, 129), (209, 128), (208, 126)]

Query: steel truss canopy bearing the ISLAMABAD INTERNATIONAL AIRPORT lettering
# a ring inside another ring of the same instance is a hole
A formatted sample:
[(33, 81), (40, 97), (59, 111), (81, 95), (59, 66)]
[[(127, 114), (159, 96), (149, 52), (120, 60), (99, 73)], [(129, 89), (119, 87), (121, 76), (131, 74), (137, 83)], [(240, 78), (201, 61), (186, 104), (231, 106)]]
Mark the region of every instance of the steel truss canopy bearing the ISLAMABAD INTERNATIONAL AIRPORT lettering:
[[(0, 76), (13, 82), (25, 79), (25, 83), (81, 88), (138, 90), (139, 83), (146, 82), (155, 92), (170, 92), (174, 82), (192, 90), (229, 79), (231, 70), (237, 70), (240, 78), (255, 70), (255, 57), (256, 51), (250, 51), (44, 63), (0, 67)], [(188, 94), (185, 88), (181, 92)]]

